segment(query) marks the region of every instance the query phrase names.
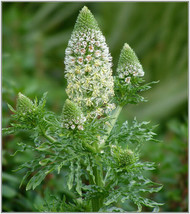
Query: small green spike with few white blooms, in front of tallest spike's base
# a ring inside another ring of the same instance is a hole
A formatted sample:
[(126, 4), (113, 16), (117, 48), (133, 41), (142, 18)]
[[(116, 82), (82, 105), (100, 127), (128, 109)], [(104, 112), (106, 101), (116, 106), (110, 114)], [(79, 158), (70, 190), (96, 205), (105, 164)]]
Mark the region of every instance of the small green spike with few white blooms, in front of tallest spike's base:
[(86, 118), (83, 116), (82, 111), (70, 100), (66, 100), (62, 110), (63, 127), (66, 129), (84, 130), (83, 124)]

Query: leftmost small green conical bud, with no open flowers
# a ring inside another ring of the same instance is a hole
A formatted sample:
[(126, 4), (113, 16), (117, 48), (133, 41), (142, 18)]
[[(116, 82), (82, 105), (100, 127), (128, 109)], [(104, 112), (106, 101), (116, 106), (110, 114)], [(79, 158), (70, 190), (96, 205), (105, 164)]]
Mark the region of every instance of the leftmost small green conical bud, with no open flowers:
[(17, 111), (19, 112), (30, 111), (32, 110), (33, 106), (34, 106), (33, 102), (28, 97), (19, 92), (16, 107)]

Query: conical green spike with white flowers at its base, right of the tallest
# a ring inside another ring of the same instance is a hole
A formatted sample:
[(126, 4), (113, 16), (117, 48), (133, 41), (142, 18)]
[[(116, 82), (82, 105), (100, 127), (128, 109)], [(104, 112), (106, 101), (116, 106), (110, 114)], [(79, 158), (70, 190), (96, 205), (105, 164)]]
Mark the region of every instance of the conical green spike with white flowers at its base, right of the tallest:
[(140, 64), (135, 52), (127, 43), (124, 44), (120, 54), (117, 75), (126, 84), (129, 84), (133, 77), (144, 76), (142, 65)]

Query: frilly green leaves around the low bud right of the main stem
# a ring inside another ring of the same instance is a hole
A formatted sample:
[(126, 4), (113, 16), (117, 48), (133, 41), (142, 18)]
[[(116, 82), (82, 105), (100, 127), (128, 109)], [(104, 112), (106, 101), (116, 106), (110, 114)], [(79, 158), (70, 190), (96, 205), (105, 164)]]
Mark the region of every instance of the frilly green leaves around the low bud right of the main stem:
[(146, 198), (146, 193), (158, 192), (162, 185), (146, 177), (146, 171), (155, 169), (155, 164), (139, 160), (140, 147), (145, 142), (155, 141), (155, 133), (149, 122), (137, 122), (129, 125), (126, 121), (116, 127), (108, 139), (109, 152), (105, 153), (106, 175), (105, 186), (108, 194), (104, 201), (104, 210), (109, 210), (117, 203), (133, 203), (138, 211), (142, 206), (158, 209), (162, 205)]

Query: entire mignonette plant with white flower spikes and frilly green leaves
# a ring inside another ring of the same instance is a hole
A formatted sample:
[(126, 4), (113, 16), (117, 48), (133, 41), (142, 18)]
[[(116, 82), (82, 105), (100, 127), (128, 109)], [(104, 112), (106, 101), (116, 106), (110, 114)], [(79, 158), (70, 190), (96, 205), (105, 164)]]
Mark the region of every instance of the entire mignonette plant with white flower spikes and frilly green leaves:
[(162, 188), (146, 177), (155, 164), (140, 160), (143, 144), (157, 141), (154, 127), (136, 119), (117, 123), (122, 108), (146, 101), (139, 93), (150, 88), (135, 52), (124, 44), (113, 76), (105, 37), (84, 7), (65, 54), (68, 99), (61, 115), (45, 109), (46, 93), (40, 101), (19, 93), (16, 109), (9, 105), (13, 123), (5, 133), (27, 130), (34, 144), (19, 143), (19, 151), (36, 154), (17, 169), (25, 169), (21, 185), (34, 190), (48, 174), (65, 172), (66, 194), (44, 203), (44, 212), (125, 212), (127, 205), (158, 211), (162, 204), (146, 197)]

